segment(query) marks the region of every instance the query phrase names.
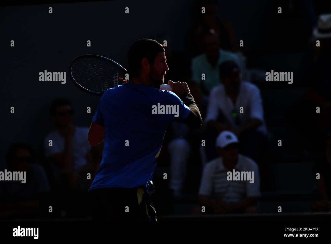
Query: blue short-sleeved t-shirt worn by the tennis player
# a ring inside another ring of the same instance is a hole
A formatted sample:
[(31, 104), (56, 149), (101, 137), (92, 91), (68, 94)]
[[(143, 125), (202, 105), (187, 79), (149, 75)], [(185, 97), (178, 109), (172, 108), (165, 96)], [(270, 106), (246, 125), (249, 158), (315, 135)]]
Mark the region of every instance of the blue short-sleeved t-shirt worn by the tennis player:
[(131, 188), (152, 180), (167, 126), (189, 114), (190, 108), (167, 90), (129, 82), (108, 89), (93, 116), (105, 126), (105, 144), (89, 190)]

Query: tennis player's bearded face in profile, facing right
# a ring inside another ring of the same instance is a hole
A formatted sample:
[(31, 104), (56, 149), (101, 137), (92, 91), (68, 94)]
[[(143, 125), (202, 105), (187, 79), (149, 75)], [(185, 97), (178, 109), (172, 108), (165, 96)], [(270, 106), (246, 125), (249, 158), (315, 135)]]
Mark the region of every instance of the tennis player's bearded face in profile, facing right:
[(166, 64), (166, 53), (160, 52), (154, 59), (154, 64), (151, 65), (149, 72), (149, 79), (151, 85), (160, 88), (160, 85), (164, 82), (164, 76), (166, 71), (168, 71), (168, 65)]

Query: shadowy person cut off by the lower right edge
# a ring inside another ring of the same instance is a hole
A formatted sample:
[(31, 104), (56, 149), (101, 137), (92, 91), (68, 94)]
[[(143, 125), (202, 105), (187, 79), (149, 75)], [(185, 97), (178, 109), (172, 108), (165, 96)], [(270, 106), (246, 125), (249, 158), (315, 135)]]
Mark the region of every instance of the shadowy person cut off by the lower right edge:
[(331, 211), (331, 131), (326, 135), (326, 158), (322, 162), (315, 163), (315, 175), (320, 174), (316, 179), (319, 201), (312, 204), (313, 211)]

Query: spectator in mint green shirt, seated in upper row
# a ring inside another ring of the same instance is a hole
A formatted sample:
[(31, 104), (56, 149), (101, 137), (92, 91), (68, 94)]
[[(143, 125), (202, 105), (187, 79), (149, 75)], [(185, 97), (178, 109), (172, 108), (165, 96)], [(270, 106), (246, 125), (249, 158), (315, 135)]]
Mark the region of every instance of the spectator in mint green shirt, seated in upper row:
[[(219, 40), (213, 29), (202, 33), (201, 42), (204, 53), (192, 59), (192, 79), (201, 84), (205, 95), (209, 95), (211, 90), (219, 85), (219, 65), (226, 60), (232, 60), (241, 70), (245, 70), (245, 66), (236, 54), (219, 48)], [(205, 80), (201, 79), (202, 74), (205, 74)]]

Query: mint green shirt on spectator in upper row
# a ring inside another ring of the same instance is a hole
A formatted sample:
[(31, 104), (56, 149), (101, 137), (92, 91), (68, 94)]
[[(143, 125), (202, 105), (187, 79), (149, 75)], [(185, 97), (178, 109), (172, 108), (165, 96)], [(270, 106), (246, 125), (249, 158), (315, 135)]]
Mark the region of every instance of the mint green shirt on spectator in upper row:
[[(206, 89), (210, 92), (213, 87), (220, 84), (218, 68), (222, 62), (227, 60), (235, 61), (241, 72), (243, 72), (244, 66), (237, 54), (219, 49), (219, 58), (215, 67), (212, 67), (207, 61), (207, 56), (205, 53), (192, 59), (192, 79), (198, 83), (204, 83)], [(202, 80), (202, 74), (205, 74), (205, 80)]]

